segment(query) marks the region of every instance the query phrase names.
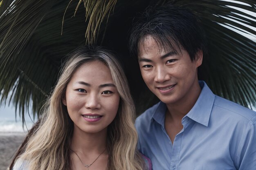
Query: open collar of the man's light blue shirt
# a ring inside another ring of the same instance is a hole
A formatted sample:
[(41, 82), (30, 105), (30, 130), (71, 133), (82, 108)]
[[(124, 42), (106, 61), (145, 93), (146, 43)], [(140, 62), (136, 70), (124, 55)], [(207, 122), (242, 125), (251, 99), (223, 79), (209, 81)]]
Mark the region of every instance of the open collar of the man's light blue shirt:
[[(199, 84), (202, 91), (195, 102), (195, 105), (186, 116), (204, 126), (208, 126), (215, 95), (204, 81), (199, 81)], [(154, 119), (157, 123), (164, 126), (165, 113), (166, 104), (159, 102), (151, 119)]]

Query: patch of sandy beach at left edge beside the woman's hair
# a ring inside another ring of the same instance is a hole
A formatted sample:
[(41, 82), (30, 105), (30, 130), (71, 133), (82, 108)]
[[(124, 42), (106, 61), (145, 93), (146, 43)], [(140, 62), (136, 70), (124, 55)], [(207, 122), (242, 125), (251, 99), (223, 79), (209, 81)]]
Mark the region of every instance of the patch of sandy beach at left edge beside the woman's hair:
[(25, 133), (0, 133), (0, 170), (7, 170), (25, 135)]

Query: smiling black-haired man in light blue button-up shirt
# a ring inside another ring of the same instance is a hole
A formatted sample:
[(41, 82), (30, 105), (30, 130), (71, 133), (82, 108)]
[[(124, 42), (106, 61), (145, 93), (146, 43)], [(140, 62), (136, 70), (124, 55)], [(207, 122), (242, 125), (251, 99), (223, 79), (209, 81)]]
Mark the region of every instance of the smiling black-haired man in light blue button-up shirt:
[(204, 36), (191, 12), (147, 10), (131, 30), (130, 51), (160, 99), (135, 124), (153, 170), (256, 170), (256, 113), (198, 81)]

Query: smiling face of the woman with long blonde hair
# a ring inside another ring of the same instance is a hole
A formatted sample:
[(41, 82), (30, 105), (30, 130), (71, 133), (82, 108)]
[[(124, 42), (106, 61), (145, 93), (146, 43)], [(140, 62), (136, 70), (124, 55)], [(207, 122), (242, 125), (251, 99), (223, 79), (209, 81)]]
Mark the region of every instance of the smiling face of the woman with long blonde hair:
[(74, 130), (97, 133), (114, 120), (119, 94), (108, 66), (100, 61), (80, 66), (67, 84), (63, 104), (74, 122)]

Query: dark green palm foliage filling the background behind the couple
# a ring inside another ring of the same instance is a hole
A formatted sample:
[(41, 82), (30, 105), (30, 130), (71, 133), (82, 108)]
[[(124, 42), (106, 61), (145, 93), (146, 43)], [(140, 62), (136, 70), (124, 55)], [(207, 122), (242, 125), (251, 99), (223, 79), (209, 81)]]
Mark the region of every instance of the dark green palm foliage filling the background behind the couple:
[[(148, 5), (166, 2), (168, 0), (3, 0), (0, 5), (1, 103), (9, 102), (7, 96), (11, 94), (16, 108), (21, 110), (20, 116), (24, 116), (31, 100), (33, 114), (38, 113), (52, 91), (65, 55), (82, 44), (99, 44), (119, 53), (137, 111), (141, 113), (157, 98), (141, 79), (137, 61), (128, 55), (128, 30), (137, 13)], [(255, 13), (255, 2), (172, 2), (193, 11), (206, 31), (209, 55), (204, 56), (200, 79), (217, 95), (246, 107), (255, 106), (256, 43), (233, 31), (256, 37), (256, 15), (244, 11)], [(80, 7), (82, 4), (84, 7)]]

